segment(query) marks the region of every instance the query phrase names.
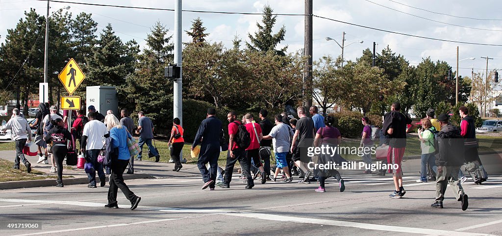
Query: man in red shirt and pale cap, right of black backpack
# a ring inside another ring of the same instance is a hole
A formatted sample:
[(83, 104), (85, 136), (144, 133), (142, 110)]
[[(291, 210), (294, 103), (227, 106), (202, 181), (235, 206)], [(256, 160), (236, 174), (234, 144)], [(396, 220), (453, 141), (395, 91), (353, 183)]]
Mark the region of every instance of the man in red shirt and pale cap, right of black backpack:
[[(249, 147), (246, 149), (246, 158), (249, 161), (253, 160), (255, 167), (260, 170), (260, 173), (262, 174), (262, 184), (264, 184), (267, 182), (267, 176), (265, 174), (265, 169), (263, 168), (262, 161), (260, 160), (260, 142), (263, 138), (262, 127), (260, 127), (259, 124), (255, 123), (253, 114), (251, 113), (245, 114), (244, 119), (246, 120), (246, 124), (244, 126), (246, 127), (246, 130), (247, 132), (249, 132), (249, 136), (251, 137), (251, 144), (249, 144)], [(255, 174), (255, 177), (253, 177), (253, 179), (255, 179), (257, 175), (258, 172)]]

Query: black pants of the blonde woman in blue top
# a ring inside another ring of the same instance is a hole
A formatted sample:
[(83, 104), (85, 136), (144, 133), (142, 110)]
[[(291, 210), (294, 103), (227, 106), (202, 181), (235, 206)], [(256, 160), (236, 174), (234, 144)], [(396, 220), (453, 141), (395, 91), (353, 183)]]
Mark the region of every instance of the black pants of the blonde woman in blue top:
[(126, 167), (129, 165), (129, 160), (113, 159), (111, 162), (111, 175), (110, 175), (110, 187), (108, 188), (108, 204), (117, 203), (117, 191), (120, 191), (126, 198), (133, 203), (137, 196), (129, 190), (129, 187), (124, 183), (124, 178), (122, 174)]

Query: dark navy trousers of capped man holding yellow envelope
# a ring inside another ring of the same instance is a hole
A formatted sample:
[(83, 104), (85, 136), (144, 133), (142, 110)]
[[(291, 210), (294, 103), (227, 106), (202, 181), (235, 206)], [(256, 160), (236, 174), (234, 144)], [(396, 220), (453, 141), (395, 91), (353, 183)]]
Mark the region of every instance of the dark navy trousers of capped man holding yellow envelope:
[[(209, 188), (214, 188), (214, 181), (216, 181), (216, 173), (218, 171), (218, 158), (219, 158), (219, 147), (218, 149), (210, 148), (206, 145), (200, 147), (199, 160), (197, 161), (197, 167), (202, 174), (202, 180), (204, 183), (212, 180), (213, 183), (209, 185)], [(206, 164), (209, 163), (209, 170), (206, 168)]]

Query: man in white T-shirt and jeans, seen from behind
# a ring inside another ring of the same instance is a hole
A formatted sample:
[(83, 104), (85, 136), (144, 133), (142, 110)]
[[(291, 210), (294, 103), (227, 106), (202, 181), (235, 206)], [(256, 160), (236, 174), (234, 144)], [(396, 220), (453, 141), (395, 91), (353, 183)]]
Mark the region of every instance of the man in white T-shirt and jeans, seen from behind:
[(106, 176), (103, 172), (103, 165), (97, 161), (97, 156), (104, 146), (103, 137), (108, 138), (109, 134), (106, 126), (102, 122), (95, 120), (96, 114), (94, 112), (89, 112), (87, 118), (89, 122), (85, 124), (82, 132), (80, 151), (85, 152), (85, 161), (92, 163), (95, 170), (93, 173), (87, 174), (87, 178), (89, 178), (87, 187), (96, 188), (96, 171), (99, 176), (100, 186), (104, 187)]

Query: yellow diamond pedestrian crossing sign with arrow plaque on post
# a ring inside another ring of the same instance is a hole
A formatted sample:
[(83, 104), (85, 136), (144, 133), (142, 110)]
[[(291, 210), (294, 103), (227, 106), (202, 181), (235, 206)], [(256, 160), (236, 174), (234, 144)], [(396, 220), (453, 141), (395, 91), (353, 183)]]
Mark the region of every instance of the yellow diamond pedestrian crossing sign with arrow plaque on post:
[(61, 104), (60, 109), (70, 110), (68, 113), (68, 131), (71, 133), (71, 110), (79, 110), (80, 109), (80, 97), (79, 96), (71, 96), (77, 87), (84, 81), (85, 75), (82, 73), (82, 70), (77, 65), (77, 62), (73, 60), (73, 58), (68, 61), (66, 66), (63, 68), (61, 73), (58, 75), (59, 80), (63, 83), (64, 88), (70, 96), (61, 96)]

